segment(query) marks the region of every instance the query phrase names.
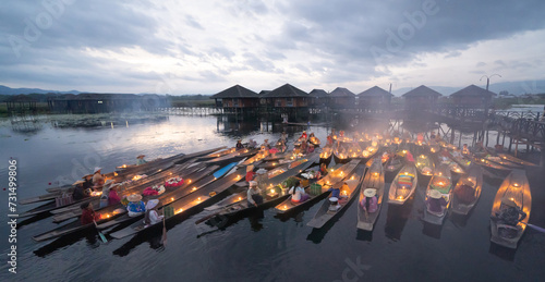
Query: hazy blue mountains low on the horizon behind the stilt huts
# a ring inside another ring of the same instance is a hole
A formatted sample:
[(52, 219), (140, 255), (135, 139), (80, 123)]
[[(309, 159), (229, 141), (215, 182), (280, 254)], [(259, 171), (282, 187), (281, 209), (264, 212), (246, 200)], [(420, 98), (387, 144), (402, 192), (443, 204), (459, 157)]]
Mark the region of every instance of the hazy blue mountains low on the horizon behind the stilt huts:
[[(480, 82), (479, 84), (475, 84), (476, 86), (486, 87), (486, 82)], [(403, 87), (399, 89), (392, 90), (392, 94), (395, 96), (401, 96), (413, 88), (419, 87), (420, 85), (414, 85), (414, 87)], [(427, 85), (426, 85), (427, 86)], [(468, 86), (468, 85), (467, 85)], [(444, 96), (451, 95), (463, 87), (449, 87), (449, 86), (427, 86)], [(523, 95), (523, 94), (544, 94), (545, 93), (545, 81), (523, 81), (523, 82), (505, 82), (505, 83), (495, 83), (491, 84), (489, 90), (494, 91), (496, 94), (499, 94), (500, 91), (508, 91), (509, 94), (514, 94), (514, 95)], [(0, 95), (19, 95), (19, 94), (48, 94), (48, 93), (56, 93), (56, 94), (81, 94), (82, 91), (78, 90), (70, 90), (70, 91), (59, 91), (59, 90), (44, 90), (40, 88), (11, 88), (8, 86), (0, 85)], [(144, 94), (138, 94), (138, 95), (144, 95)]]

